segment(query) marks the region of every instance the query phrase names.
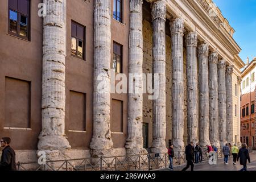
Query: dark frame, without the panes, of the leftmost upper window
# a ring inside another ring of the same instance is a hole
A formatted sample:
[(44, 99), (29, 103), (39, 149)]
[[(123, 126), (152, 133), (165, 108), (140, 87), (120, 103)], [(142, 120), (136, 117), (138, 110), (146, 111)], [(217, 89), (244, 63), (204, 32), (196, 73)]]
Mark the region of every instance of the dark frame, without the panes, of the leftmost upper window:
[[(30, 41), (30, 39), (31, 39), (31, 26), (30, 26), (30, 24), (31, 24), (31, 0), (27, 0), (27, 2), (28, 2), (28, 5), (27, 5), (28, 6), (27, 7), (28, 8), (28, 15), (24, 15), (24, 14), (22, 14), (18, 11), (18, 8), (16, 10), (11, 9), (10, 8), (10, 3), (9, 3), (9, 0), (8, 0), (8, 34), (16, 36), (20, 39)], [(10, 10), (17, 13), (17, 33), (14, 33), (14, 32), (10, 31)], [(20, 32), (20, 15), (23, 15), (23, 16), (27, 17), (27, 36), (19, 35), (19, 32)]]

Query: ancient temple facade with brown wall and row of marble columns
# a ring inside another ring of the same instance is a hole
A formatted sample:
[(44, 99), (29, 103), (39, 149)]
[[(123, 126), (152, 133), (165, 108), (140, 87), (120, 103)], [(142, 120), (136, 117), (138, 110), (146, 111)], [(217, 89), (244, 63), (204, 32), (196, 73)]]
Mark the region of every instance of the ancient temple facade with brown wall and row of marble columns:
[(0, 14), (0, 137), (18, 161), (240, 143), (245, 64), (211, 0), (6, 0)]

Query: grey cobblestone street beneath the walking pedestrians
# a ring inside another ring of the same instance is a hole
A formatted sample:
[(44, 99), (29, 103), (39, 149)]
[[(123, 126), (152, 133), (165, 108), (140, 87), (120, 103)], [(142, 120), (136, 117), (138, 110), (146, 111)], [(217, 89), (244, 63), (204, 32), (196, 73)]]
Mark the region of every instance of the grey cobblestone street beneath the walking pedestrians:
[[(256, 171), (256, 151), (250, 153), (251, 163), (247, 163), (248, 171)], [(183, 166), (175, 166), (174, 171), (181, 171)], [(195, 164), (195, 171), (239, 171), (243, 166), (239, 162), (236, 165), (233, 165), (233, 156), (229, 157), (228, 164), (224, 164), (224, 158), (217, 160), (217, 165), (210, 165), (207, 161)], [(190, 170), (187, 169), (187, 170)], [(160, 171), (170, 171), (168, 168), (160, 169)]]

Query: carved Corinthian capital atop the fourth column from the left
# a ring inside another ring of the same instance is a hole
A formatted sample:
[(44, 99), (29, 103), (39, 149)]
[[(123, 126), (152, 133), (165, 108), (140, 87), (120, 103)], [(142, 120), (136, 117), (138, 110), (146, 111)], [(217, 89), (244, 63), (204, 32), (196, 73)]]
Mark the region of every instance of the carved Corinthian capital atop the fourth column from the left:
[(166, 20), (166, 2), (163, 0), (155, 1), (152, 7), (152, 21), (156, 18)]

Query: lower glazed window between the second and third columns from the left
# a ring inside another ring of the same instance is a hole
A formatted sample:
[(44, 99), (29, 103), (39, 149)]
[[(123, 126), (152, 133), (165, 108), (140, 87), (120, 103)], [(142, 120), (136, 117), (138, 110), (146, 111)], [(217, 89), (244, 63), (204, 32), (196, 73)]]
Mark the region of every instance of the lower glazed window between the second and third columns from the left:
[(122, 48), (123, 46), (113, 43), (113, 63), (112, 68), (115, 72), (122, 73)]

